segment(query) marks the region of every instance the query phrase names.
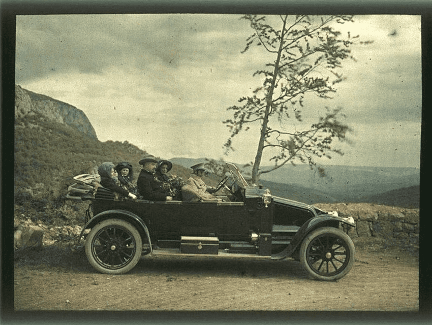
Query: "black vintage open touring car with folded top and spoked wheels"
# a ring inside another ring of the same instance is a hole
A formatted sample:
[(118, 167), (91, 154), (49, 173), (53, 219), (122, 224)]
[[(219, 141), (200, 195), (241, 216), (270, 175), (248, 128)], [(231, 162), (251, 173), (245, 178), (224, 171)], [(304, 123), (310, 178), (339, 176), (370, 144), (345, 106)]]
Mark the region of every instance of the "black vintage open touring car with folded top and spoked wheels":
[(118, 199), (94, 175), (74, 177), (77, 183), (69, 187), (68, 198), (91, 200), (79, 236), (80, 240), (86, 235), (91, 266), (102, 273), (121, 274), (146, 254), (211, 254), (294, 258), (324, 281), (350, 271), (355, 259), (348, 236), (355, 227), (352, 217), (273, 197), (262, 186), (248, 185), (235, 165), (227, 167), (230, 175), (217, 189), (228, 190), (230, 202)]

